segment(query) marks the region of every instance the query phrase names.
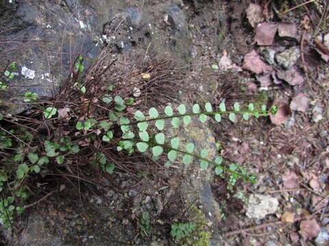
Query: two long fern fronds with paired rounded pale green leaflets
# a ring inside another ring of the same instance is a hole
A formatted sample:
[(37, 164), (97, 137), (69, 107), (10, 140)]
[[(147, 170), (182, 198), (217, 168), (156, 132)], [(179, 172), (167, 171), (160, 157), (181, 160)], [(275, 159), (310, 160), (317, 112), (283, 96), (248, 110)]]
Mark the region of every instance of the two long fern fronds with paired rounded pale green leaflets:
[[(117, 98), (116, 102), (119, 101), (122, 101), (121, 104), (123, 105), (123, 100)], [(269, 111), (275, 114), (277, 107), (271, 107)], [(239, 177), (243, 178), (245, 182), (256, 182), (256, 176), (254, 174), (248, 175), (246, 170), (239, 167), (239, 165), (231, 164), (230, 167), (221, 165), (223, 161), (221, 156), (216, 156), (214, 161), (210, 160), (208, 158), (209, 150), (203, 149), (197, 153), (195, 152), (194, 143), (185, 142), (183, 146), (178, 137), (166, 138), (162, 132), (165, 128), (168, 128), (165, 121), (170, 120), (171, 127), (179, 128), (180, 126), (188, 126), (188, 124), (196, 120), (195, 118), (198, 118), (200, 122), (204, 123), (208, 120), (209, 116), (213, 116), (217, 122), (221, 122), (223, 115), (228, 115), (228, 119), (231, 122), (236, 122), (237, 114), (242, 114), (244, 120), (249, 120), (251, 116), (256, 118), (268, 116), (269, 111), (266, 105), (263, 105), (259, 110), (254, 109), (252, 103), (247, 106), (247, 109), (241, 109), (238, 102), (234, 103), (233, 110), (227, 111), (225, 103), (222, 102), (219, 105), (219, 111), (213, 111), (212, 105), (210, 102), (207, 102), (204, 105), (204, 110), (201, 109), (200, 105), (195, 104), (190, 112), (187, 111), (186, 106), (183, 104), (177, 107), (176, 113), (171, 106), (165, 107), (162, 115), (154, 107), (149, 109), (147, 116), (142, 111), (136, 111), (134, 113), (135, 121), (133, 122), (125, 116), (115, 117), (112, 115), (110, 118), (112, 118), (112, 122), (119, 122), (122, 131), (123, 140), (119, 141), (118, 151), (127, 150), (128, 154), (132, 154), (134, 147), (136, 147), (139, 152), (151, 153), (154, 159), (160, 158), (165, 153), (168, 159), (165, 164), (167, 167), (176, 161), (179, 156), (182, 156), (184, 165), (189, 165), (193, 159), (198, 159), (201, 169), (207, 169), (209, 165), (213, 165), (215, 167), (215, 174), (217, 175), (223, 176), (224, 171), (229, 172), (230, 184), (234, 184)], [(150, 127), (151, 122), (154, 122), (155, 128)], [(112, 123), (104, 121), (100, 125), (105, 131), (103, 141), (110, 141), (113, 136), (112, 131), (110, 131)], [(136, 136), (136, 132), (138, 136)]]

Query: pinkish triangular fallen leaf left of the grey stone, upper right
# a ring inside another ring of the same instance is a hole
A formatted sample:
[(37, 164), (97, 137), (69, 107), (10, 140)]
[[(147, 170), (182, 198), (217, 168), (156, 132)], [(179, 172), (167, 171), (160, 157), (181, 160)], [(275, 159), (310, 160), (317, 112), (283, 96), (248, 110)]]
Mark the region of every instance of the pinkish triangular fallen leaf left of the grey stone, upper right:
[(265, 64), (265, 62), (260, 59), (260, 55), (253, 50), (245, 55), (243, 60), (242, 68), (260, 74), (262, 72), (269, 72), (272, 70), (271, 66)]

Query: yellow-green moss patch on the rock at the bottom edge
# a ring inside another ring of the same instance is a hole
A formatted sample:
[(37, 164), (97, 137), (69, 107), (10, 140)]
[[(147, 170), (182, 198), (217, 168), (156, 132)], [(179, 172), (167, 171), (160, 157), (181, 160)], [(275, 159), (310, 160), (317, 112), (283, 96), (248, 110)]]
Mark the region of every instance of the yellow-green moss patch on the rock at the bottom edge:
[(193, 215), (193, 222), (196, 224), (197, 229), (189, 236), (182, 238), (178, 242), (178, 245), (209, 246), (212, 232), (208, 227), (211, 224), (211, 221), (206, 219), (202, 210), (197, 208), (197, 206), (193, 206), (192, 211), (193, 213), (191, 213), (191, 215)]

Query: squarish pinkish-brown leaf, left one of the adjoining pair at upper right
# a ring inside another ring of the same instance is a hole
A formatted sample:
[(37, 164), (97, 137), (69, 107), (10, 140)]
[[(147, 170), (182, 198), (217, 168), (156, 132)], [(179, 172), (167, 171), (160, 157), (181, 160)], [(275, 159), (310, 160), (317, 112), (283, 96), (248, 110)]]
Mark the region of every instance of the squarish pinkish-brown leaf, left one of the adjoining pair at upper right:
[(256, 42), (258, 45), (273, 44), (278, 24), (276, 23), (259, 23), (256, 27)]

